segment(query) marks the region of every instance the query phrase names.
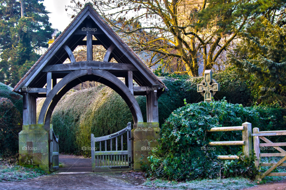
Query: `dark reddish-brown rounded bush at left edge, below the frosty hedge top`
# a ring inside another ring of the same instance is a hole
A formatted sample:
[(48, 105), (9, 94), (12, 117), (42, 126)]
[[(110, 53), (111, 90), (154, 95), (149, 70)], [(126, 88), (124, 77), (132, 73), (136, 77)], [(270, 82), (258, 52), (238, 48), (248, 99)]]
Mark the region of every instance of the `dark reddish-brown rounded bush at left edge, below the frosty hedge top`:
[(13, 102), (0, 97), (0, 156), (9, 157), (18, 152), (18, 133), (22, 128), (22, 116)]

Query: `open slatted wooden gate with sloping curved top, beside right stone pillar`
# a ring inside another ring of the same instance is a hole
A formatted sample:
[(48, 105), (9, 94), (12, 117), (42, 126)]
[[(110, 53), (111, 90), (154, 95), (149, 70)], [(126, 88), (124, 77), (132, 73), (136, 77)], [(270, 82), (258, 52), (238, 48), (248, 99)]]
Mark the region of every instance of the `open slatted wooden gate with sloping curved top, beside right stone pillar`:
[[(127, 133), (127, 150), (123, 150), (124, 133)], [(118, 150), (118, 137), (121, 140), (121, 150)], [(112, 150), (112, 139), (115, 140), (115, 150)], [(95, 147), (96, 142), (99, 143), (99, 148)], [(110, 145), (107, 145), (109, 142)], [(99, 151), (95, 151), (98, 149)], [(131, 122), (124, 129), (111, 135), (94, 138), (94, 134), (91, 134), (91, 163), (93, 172), (132, 169)]]

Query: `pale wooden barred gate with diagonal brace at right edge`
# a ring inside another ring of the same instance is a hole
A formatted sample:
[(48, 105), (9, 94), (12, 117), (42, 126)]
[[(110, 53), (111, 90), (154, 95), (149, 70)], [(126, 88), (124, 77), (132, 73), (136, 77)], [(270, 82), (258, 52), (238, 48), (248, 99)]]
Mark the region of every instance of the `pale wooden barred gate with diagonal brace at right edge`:
[[(265, 136), (280, 136), (286, 135), (286, 131), (259, 131), (259, 128), (253, 129), (253, 144), (254, 144), (254, 152), (257, 160), (255, 160), (255, 166), (258, 170), (260, 170), (260, 157), (271, 157), (271, 156), (284, 156), (277, 163), (261, 163), (261, 166), (272, 166), (266, 172), (262, 173), (260, 176), (258, 175), (258, 179), (262, 179), (265, 176), (286, 176), (286, 173), (275, 173), (272, 172), (277, 166), (286, 166), (286, 163), (283, 163), (286, 160), (286, 151), (280, 148), (279, 146), (286, 146), (286, 143), (273, 143)], [(260, 139), (265, 143), (260, 143)], [(281, 153), (260, 153), (260, 150), (266, 149), (262, 147), (272, 147), (278, 150)], [(271, 173), (272, 172), (272, 173)]]

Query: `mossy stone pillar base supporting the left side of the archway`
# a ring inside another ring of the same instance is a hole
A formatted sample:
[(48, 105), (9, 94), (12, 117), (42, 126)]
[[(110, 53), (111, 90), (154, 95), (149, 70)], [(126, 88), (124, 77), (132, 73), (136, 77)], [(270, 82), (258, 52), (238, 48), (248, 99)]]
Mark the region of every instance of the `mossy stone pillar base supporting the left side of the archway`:
[(49, 171), (49, 130), (43, 124), (23, 125), (19, 133), (19, 164)]

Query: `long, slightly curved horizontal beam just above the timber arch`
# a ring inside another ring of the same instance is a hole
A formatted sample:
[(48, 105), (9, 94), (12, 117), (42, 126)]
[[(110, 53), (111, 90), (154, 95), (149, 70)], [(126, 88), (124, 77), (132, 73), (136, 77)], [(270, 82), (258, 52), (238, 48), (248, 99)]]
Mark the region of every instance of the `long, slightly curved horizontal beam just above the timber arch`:
[(103, 69), (103, 70), (119, 70), (119, 71), (137, 71), (137, 69), (126, 63), (111, 63), (102, 61), (80, 61), (75, 63), (66, 63), (58, 65), (46, 66), (43, 72), (55, 72), (55, 71), (73, 71), (83, 69)]

